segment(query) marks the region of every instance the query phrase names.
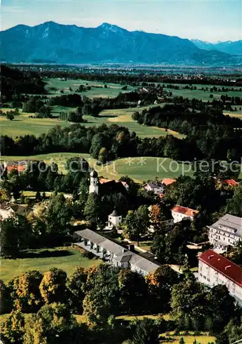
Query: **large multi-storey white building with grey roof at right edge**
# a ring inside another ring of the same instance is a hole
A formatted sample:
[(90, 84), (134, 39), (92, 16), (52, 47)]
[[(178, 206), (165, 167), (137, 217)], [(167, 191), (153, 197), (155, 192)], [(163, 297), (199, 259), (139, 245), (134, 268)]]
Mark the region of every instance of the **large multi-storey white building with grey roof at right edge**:
[(208, 226), (208, 237), (214, 248), (234, 246), (242, 236), (242, 217), (226, 214), (215, 224)]

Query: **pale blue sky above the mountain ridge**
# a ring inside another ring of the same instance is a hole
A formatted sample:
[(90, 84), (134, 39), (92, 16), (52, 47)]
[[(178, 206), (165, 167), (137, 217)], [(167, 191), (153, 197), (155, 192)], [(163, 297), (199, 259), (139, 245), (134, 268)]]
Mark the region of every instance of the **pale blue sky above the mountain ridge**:
[(128, 30), (203, 41), (241, 39), (241, 0), (0, 0), (1, 30), (44, 21)]

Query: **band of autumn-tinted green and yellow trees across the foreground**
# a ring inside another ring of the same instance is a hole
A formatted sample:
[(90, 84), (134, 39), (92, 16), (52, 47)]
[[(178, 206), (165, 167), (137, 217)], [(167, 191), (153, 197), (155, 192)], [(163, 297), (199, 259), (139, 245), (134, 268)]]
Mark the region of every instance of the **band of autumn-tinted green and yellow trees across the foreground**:
[[(158, 344), (159, 334), (171, 330), (208, 331), (216, 343), (228, 343), (241, 334), (241, 310), (226, 286), (210, 289), (198, 283), (187, 266), (177, 275), (164, 265), (145, 278), (105, 264), (77, 266), (69, 277), (59, 268), (32, 270), (8, 283), (1, 281), (0, 287), (1, 313), (12, 311), (1, 323), (1, 339), (7, 344), (56, 343), (57, 337), (59, 342), (71, 338), (72, 343), (81, 343), (80, 338), (84, 343), (129, 338), (132, 344)], [(128, 325), (116, 319), (154, 311), (169, 313), (172, 320), (160, 316)], [(85, 323), (77, 323), (74, 314), (83, 314)]]

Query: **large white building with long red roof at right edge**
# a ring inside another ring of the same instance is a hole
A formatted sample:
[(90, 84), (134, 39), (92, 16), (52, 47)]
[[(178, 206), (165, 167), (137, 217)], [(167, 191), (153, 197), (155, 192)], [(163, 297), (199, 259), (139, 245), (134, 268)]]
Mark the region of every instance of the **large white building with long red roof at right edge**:
[(232, 297), (242, 305), (242, 268), (214, 250), (199, 255), (199, 282), (211, 288), (224, 284)]

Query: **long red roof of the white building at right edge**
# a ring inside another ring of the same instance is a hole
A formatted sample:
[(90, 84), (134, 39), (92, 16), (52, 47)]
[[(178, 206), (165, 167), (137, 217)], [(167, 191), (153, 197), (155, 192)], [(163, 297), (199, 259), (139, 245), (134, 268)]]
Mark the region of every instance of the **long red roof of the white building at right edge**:
[(199, 260), (208, 264), (228, 279), (242, 287), (242, 268), (213, 250), (207, 250), (199, 256)]

